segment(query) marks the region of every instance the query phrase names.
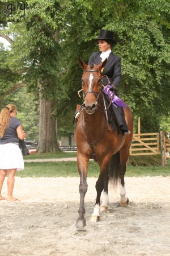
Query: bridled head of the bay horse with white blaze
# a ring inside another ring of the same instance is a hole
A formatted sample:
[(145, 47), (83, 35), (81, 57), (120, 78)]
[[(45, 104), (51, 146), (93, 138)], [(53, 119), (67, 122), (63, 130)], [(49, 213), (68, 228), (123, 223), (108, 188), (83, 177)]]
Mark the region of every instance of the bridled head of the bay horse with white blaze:
[(107, 59), (99, 65), (87, 65), (79, 58), (79, 65), (84, 69), (82, 76), (83, 108), (88, 114), (93, 114), (97, 108), (102, 89), (101, 68), (106, 62)]

